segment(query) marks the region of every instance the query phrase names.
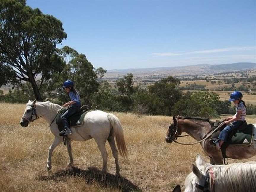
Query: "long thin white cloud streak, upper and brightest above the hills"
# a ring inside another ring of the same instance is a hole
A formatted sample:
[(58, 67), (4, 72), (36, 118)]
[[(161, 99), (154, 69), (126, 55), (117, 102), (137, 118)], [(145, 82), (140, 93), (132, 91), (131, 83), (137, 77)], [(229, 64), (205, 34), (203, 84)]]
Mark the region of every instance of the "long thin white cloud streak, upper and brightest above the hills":
[(248, 51), (248, 50), (255, 50), (255, 49), (256, 47), (229, 47), (229, 48), (190, 51), (190, 52), (182, 52), (182, 53), (152, 53), (151, 55), (156, 57), (164, 57), (164, 56), (179, 56), (179, 55), (200, 54), (200, 53)]

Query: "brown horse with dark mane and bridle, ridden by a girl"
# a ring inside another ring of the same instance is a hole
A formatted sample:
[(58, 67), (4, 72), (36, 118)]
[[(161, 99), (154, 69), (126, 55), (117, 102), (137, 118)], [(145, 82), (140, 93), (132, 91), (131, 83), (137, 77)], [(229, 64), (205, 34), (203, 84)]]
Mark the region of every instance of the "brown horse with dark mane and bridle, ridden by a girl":
[[(226, 155), (231, 159), (248, 159), (256, 155), (256, 124), (254, 124), (253, 141), (250, 146), (245, 145), (229, 145), (226, 149)], [(212, 126), (207, 119), (177, 117), (173, 116), (173, 123), (169, 126), (165, 140), (172, 143), (183, 132), (193, 137), (197, 141), (207, 138), (212, 131)], [(210, 157), (211, 164), (223, 164), (221, 150), (217, 150), (210, 143), (210, 137), (200, 142), (204, 152)]]

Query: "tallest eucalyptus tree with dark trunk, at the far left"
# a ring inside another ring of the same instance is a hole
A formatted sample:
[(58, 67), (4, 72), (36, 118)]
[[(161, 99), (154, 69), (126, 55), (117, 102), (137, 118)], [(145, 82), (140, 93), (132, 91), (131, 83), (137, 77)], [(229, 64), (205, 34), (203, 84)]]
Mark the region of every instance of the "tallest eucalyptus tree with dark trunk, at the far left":
[[(66, 38), (61, 21), (52, 15), (44, 15), (38, 8), (26, 6), (25, 0), (0, 0), (2, 81), (31, 83), (35, 98), (41, 101), (43, 82), (63, 70), (63, 58), (57, 54), (56, 44)], [(10, 76), (15, 78), (10, 79)], [(37, 76), (41, 76), (38, 84)]]

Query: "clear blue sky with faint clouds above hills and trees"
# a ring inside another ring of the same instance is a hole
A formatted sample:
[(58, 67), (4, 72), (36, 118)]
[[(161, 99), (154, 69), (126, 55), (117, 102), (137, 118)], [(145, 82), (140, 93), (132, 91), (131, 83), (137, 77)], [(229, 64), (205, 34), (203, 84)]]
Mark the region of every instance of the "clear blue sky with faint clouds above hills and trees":
[(255, 0), (27, 0), (95, 68), (256, 63)]

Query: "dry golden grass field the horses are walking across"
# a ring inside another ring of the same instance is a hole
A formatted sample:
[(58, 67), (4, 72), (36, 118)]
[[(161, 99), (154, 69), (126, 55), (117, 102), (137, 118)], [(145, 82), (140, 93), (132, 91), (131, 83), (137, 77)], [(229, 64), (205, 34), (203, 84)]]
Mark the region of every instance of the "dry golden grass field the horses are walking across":
[[(99, 176), (102, 157), (94, 140), (72, 142), (75, 167), (68, 168), (66, 147), (58, 146), (52, 157), (52, 171), (46, 171), (48, 148), (53, 135), (43, 119), (21, 127), (24, 104), (0, 103), (0, 191), (1, 192), (84, 192), (84, 191), (172, 191), (183, 186), (196, 153), (204, 155), (199, 144), (168, 144), (164, 138), (171, 117), (114, 113), (121, 121), (129, 159), (119, 156), (121, 177), (114, 176), (115, 162), (108, 145), (108, 174)], [(255, 116), (247, 121), (255, 122)], [(194, 142), (192, 137), (180, 142)], [(237, 162), (238, 160), (229, 160)], [(242, 161), (256, 161), (256, 157)]]

